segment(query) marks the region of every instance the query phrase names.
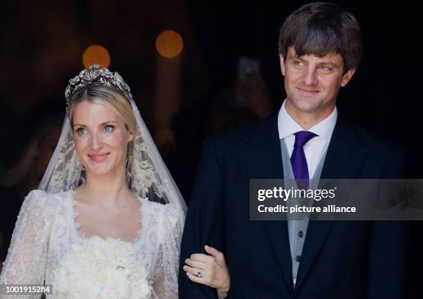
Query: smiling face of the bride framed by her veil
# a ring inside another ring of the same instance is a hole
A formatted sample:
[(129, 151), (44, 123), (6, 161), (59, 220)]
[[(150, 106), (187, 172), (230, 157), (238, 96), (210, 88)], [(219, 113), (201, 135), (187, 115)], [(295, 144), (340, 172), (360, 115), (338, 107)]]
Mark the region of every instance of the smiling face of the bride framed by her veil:
[(123, 120), (101, 104), (83, 101), (73, 112), (75, 149), (88, 177), (120, 175), (133, 139)]

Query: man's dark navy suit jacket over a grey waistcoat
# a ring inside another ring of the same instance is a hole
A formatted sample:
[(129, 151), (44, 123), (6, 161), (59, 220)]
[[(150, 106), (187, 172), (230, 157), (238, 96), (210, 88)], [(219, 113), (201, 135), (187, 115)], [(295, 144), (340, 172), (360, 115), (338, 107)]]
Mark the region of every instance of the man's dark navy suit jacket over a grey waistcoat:
[[(399, 148), (338, 118), (321, 178), (400, 176)], [(405, 222), (310, 221), (294, 289), (287, 222), (249, 220), (250, 178), (283, 178), (276, 114), (205, 141), (182, 239), (180, 299), (216, 298), (182, 270), (205, 244), (225, 254), (228, 299), (405, 298)]]

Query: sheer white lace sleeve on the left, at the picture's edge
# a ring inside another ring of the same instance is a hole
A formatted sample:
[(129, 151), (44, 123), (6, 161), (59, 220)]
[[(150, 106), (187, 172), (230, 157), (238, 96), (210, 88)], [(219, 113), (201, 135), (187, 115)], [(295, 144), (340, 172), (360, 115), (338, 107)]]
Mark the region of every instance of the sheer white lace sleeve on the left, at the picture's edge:
[[(48, 237), (53, 207), (46, 204), (44, 191), (31, 191), (23, 201), (17, 218), (8, 256), (1, 271), (0, 284), (43, 284), (46, 271)], [(22, 296), (26, 299), (41, 298)], [(1, 296), (0, 298), (18, 298)]]

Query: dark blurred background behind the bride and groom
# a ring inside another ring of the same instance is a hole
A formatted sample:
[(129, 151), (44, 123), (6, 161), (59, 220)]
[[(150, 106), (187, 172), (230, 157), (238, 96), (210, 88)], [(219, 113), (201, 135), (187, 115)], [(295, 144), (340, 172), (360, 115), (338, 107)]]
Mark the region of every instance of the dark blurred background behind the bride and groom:
[[(308, 2), (2, 3), (0, 171), (19, 161), (32, 136), (46, 126), (46, 119), (64, 117), (64, 88), (68, 79), (82, 70), (82, 53), (93, 44), (109, 50), (109, 68), (118, 71), (131, 86), (141, 115), (154, 135), (157, 128), (153, 111), (166, 108), (155, 106), (155, 41), (162, 30), (172, 29), (184, 41), (180, 104), (171, 123), (175, 142), (160, 146), (160, 151), (188, 201), (205, 135), (260, 118), (245, 113), (245, 109), (239, 113), (225, 102), (230, 97), (227, 90), (236, 81), (238, 58), (249, 56), (261, 61), (261, 76), (272, 110), (278, 110), (285, 98), (277, 52), (279, 27), (293, 10)], [(386, 142), (404, 146), (409, 177), (423, 177), (423, 106), (421, 97), (417, 97), (418, 84), (411, 76), (417, 59), (416, 53), (411, 53), (411, 39), (415, 39), (411, 33), (411, 4), (333, 2), (357, 17), (364, 42), (361, 66), (339, 95), (339, 115)], [(216, 118), (225, 119), (225, 124), (216, 125)], [(3, 203), (10, 200), (6, 194), (0, 194)], [(1, 213), (6, 215), (8, 211)], [(417, 258), (422, 255), (417, 247), (422, 233), (423, 229), (413, 231), (415, 258), (411, 260), (416, 273), (422, 269), (421, 258)]]

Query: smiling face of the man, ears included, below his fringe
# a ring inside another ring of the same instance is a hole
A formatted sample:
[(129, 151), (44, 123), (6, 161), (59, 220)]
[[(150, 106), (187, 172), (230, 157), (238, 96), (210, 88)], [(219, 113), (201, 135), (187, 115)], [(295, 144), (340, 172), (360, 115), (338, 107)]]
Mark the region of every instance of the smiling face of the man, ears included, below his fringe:
[(293, 46), (288, 48), (285, 61), (281, 55), (281, 70), (287, 110), (297, 115), (329, 115), (335, 108), (339, 88), (346, 86), (354, 74), (354, 70), (344, 74), (344, 60), (337, 53), (299, 57)]

